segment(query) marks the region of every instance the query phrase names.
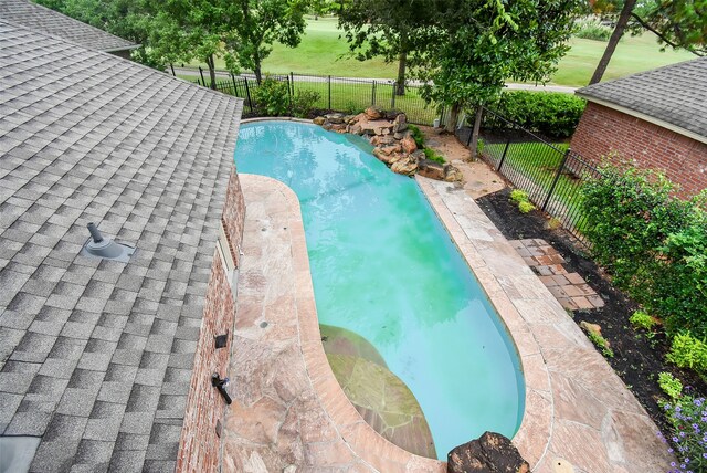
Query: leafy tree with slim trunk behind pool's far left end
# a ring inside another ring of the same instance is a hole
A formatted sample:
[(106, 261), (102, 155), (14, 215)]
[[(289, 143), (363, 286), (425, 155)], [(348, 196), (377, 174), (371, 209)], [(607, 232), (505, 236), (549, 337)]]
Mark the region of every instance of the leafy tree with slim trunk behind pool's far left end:
[(232, 0), (233, 29), (225, 38), (226, 64), (231, 71), (252, 70), (261, 83), (262, 64), (277, 41), (299, 44), (305, 31), (306, 0)]

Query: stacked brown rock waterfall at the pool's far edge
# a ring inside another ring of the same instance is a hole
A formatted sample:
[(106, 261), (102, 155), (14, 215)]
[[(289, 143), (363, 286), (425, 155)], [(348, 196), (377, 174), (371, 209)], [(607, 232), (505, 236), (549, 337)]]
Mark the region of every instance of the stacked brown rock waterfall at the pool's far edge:
[(425, 158), (408, 129), (408, 117), (402, 112), (383, 112), (369, 107), (358, 115), (331, 113), (314, 119), (324, 129), (366, 136), (373, 145), (373, 156), (393, 172), (413, 176), (419, 174), (447, 182), (461, 181), (462, 172), (450, 164)]

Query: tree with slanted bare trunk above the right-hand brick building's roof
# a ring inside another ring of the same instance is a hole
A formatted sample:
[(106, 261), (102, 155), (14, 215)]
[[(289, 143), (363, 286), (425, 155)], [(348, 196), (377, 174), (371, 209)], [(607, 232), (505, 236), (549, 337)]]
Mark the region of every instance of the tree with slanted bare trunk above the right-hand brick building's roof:
[[(635, 24), (629, 21), (633, 19)], [(626, 29), (633, 33), (643, 29), (654, 32), (658, 42), (683, 48), (696, 55), (707, 54), (706, 0), (625, 0), (606, 49), (592, 74), (590, 84), (601, 81), (619, 41)]]

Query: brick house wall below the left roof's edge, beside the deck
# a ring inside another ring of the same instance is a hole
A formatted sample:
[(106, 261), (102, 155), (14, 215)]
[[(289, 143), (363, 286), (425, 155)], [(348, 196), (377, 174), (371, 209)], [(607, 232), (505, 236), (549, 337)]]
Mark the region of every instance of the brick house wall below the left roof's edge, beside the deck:
[[(245, 203), (234, 169), (229, 181), (222, 221), (226, 229), (229, 244), (235, 249), (241, 244), (244, 214)], [(238, 250), (235, 255), (238, 256)], [(219, 469), (221, 442), (217, 424), (223, 419), (226, 403), (218, 389), (211, 385), (211, 376), (214, 372), (218, 372), (221, 378), (228, 376), (234, 319), (234, 295), (222, 256), (217, 249), (207, 286), (201, 329), (189, 385), (177, 456), (177, 472), (215, 472)], [(214, 337), (223, 334), (229, 334), (228, 344), (217, 349)]]

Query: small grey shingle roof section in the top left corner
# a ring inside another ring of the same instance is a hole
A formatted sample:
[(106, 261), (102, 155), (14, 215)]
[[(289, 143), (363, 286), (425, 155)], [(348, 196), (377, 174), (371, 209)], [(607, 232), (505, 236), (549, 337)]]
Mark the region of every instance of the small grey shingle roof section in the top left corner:
[(137, 44), (28, 0), (0, 0), (0, 19), (42, 31), (96, 51), (123, 51)]

